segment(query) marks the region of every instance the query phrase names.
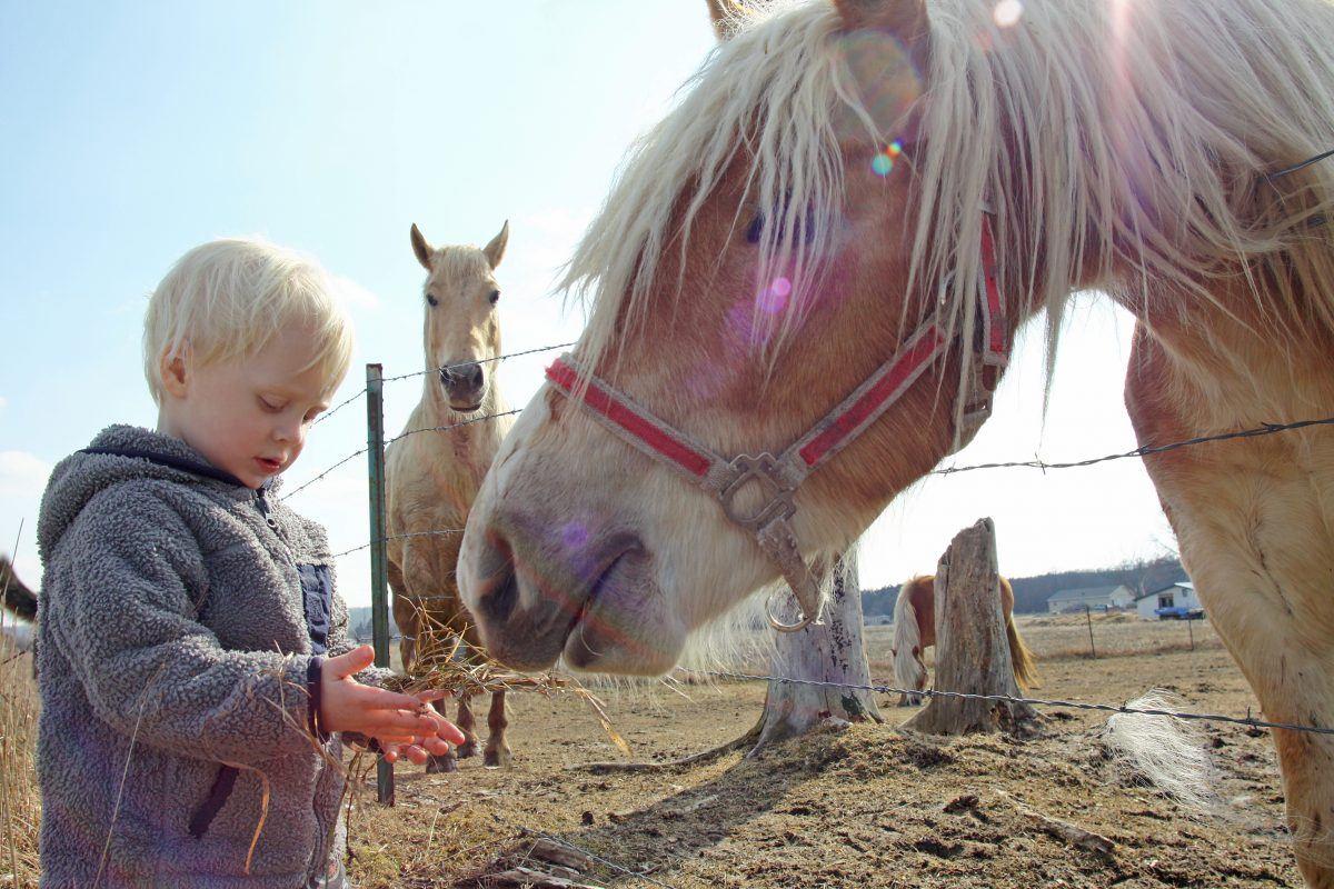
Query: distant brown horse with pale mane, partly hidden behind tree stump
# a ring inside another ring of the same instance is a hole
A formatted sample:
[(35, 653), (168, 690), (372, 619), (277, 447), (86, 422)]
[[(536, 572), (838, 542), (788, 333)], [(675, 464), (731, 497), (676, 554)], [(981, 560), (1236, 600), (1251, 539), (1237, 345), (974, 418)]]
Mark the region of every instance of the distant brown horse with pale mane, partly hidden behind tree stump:
[[(1000, 578), (1000, 610), (1005, 614), (1005, 633), (1010, 640), (1010, 666), (1019, 688), (1038, 686), (1038, 666), (1033, 652), (1023, 644), (1019, 628), (1014, 625), (1014, 589)], [(894, 684), (902, 689), (926, 689), (926, 664), (922, 656), (935, 645), (935, 577), (918, 574), (899, 589), (894, 602)], [(899, 706), (920, 704), (922, 694), (904, 692)]]

